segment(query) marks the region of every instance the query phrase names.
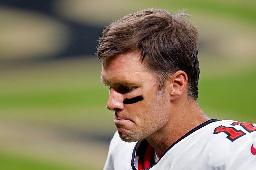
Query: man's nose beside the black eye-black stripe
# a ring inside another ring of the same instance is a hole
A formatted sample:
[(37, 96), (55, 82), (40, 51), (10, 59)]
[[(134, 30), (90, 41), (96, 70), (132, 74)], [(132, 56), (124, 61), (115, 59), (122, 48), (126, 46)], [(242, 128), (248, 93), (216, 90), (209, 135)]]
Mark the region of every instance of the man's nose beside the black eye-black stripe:
[(123, 110), (123, 100), (123, 95), (121, 93), (116, 92), (114, 89), (110, 89), (107, 108), (112, 111)]

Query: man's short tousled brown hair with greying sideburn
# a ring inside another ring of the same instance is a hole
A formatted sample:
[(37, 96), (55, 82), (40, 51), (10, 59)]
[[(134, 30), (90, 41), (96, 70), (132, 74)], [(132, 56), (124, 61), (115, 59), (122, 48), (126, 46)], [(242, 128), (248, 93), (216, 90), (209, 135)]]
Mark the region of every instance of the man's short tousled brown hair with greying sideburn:
[(170, 14), (147, 9), (129, 14), (103, 30), (97, 48), (99, 61), (139, 50), (145, 67), (152, 71), (162, 91), (170, 75), (183, 70), (188, 75), (188, 97), (197, 99), (199, 62), (198, 33), (185, 12)]

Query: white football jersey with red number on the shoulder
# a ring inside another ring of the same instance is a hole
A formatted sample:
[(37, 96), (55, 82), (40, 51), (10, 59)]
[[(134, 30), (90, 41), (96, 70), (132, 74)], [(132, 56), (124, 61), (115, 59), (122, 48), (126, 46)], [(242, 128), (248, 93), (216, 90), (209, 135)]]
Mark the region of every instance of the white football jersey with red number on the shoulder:
[[(256, 170), (255, 131), (252, 122), (209, 120), (172, 144), (147, 170)], [(116, 132), (103, 170), (137, 170), (141, 143), (124, 142)]]

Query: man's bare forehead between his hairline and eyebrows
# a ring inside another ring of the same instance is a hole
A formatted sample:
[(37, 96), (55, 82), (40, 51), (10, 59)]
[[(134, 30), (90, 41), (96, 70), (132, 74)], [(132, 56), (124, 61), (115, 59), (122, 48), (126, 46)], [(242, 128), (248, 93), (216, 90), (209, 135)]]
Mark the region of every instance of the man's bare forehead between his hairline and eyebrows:
[(140, 83), (148, 76), (148, 70), (141, 62), (140, 52), (132, 51), (115, 56), (102, 63), (101, 79), (106, 85)]

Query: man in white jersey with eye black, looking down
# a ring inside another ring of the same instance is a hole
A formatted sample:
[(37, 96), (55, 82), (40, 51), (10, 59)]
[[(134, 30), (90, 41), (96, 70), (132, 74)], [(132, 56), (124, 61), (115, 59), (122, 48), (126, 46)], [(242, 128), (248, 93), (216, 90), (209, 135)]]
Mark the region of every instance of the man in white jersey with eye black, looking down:
[(104, 170), (256, 169), (256, 123), (209, 119), (197, 104), (188, 16), (142, 10), (103, 31), (101, 80), (117, 128)]

